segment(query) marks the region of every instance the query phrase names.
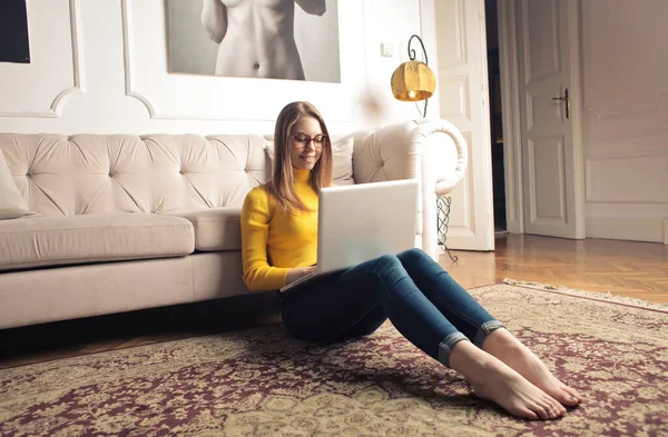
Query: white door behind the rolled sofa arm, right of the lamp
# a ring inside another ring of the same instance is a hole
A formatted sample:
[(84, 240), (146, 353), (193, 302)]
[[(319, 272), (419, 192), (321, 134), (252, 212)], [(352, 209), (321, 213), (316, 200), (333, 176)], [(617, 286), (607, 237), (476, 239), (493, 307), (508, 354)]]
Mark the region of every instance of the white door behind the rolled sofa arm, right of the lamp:
[(484, 0), (435, 0), (434, 17), (441, 118), (456, 126), (469, 146), (469, 169), (450, 193), (448, 247), (493, 250)]

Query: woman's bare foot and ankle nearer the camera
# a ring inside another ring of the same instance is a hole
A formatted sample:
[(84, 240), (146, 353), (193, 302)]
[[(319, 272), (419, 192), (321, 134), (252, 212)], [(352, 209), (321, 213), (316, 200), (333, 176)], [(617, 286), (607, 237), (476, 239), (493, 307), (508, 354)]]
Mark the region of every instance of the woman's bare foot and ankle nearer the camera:
[(556, 399), (470, 341), (454, 346), (450, 367), (471, 383), (475, 395), (497, 403), (513, 416), (547, 420), (566, 414)]

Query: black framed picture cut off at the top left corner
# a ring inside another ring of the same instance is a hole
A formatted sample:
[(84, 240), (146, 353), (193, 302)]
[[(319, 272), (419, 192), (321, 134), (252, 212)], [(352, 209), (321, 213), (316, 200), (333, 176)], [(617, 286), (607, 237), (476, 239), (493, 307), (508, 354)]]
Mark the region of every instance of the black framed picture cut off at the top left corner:
[(0, 2), (0, 62), (30, 63), (26, 0)]

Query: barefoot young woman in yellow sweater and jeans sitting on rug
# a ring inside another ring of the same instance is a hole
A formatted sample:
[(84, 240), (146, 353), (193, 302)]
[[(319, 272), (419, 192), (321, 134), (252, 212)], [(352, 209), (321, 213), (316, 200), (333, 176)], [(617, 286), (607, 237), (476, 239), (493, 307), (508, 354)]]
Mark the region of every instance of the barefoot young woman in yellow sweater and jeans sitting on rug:
[[(242, 210), (244, 281), (252, 290), (278, 289), (313, 271), (318, 191), (332, 185), (331, 142), (317, 109), (287, 105), (274, 137), (272, 180), (254, 188)], [(422, 250), (313, 279), (281, 300), (287, 330), (306, 341), (369, 335), (390, 318), (413, 345), (462, 374), (478, 396), (514, 416), (554, 419), (580, 403)]]

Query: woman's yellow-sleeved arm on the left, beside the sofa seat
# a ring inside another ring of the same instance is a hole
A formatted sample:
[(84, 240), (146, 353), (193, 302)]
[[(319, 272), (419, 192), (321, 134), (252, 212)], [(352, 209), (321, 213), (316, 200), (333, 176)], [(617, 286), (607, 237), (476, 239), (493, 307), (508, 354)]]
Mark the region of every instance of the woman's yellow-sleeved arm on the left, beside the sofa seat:
[(253, 291), (275, 290), (287, 284), (287, 268), (269, 266), (269, 198), (264, 188), (256, 187), (244, 200), (242, 208), (242, 261), (244, 284)]

